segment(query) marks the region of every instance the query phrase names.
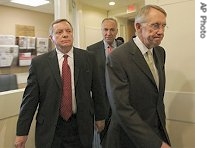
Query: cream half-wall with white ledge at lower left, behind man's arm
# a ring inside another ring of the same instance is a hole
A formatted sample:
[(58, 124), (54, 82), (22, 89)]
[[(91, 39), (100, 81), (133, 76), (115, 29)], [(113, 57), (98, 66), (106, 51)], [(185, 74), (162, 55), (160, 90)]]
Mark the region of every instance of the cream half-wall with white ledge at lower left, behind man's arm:
[[(24, 89), (0, 92), (0, 148), (14, 147), (16, 123), (23, 91)], [(35, 148), (34, 121), (31, 125), (26, 148)]]

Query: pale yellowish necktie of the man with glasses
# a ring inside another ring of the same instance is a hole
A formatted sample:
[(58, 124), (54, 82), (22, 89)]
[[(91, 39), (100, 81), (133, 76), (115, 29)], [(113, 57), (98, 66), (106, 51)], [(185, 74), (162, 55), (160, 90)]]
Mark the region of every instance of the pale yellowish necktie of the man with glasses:
[(152, 52), (150, 49), (146, 52), (145, 59), (146, 59), (147, 64), (150, 68), (150, 71), (152, 72), (152, 75), (155, 79), (156, 85), (157, 85), (157, 87), (159, 87), (159, 76), (157, 73), (157, 69), (155, 68), (155, 62), (154, 62)]

